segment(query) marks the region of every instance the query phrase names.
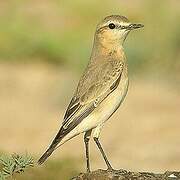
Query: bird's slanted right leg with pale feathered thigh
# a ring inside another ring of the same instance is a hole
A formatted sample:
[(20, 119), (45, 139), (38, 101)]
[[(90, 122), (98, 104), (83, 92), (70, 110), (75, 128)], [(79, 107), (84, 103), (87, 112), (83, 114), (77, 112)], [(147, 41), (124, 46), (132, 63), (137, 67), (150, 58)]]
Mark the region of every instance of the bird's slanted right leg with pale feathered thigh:
[(103, 150), (103, 148), (102, 148), (102, 146), (101, 146), (101, 144), (100, 144), (100, 142), (99, 142), (99, 135), (100, 135), (101, 128), (102, 128), (102, 126), (98, 126), (98, 127), (95, 129), (94, 134), (93, 134), (93, 139), (94, 139), (97, 147), (99, 148), (99, 150), (100, 150), (100, 152), (101, 152), (101, 154), (102, 154), (102, 156), (103, 156), (103, 158), (104, 158), (104, 161), (105, 161), (105, 163), (106, 163), (106, 165), (107, 165), (107, 167), (108, 167), (108, 170), (111, 170), (111, 171), (112, 171), (113, 168), (112, 168), (110, 162), (108, 161), (107, 156), (106, 156), (106, 154), (105, 154), (105, 152), (104, 152), (104, 150)]

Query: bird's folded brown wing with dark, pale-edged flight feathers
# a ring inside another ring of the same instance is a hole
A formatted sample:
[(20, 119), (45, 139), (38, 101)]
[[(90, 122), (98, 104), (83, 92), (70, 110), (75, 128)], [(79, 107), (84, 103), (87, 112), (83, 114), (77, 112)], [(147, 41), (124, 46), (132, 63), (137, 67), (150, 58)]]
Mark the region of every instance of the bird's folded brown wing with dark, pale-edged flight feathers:
[(68, 134), (117, 88), (121, 80), (123, 65), (122, 61), (108, 62), (100, 67), (92, 68), (82, 76), (65, 113), (59, 135)]

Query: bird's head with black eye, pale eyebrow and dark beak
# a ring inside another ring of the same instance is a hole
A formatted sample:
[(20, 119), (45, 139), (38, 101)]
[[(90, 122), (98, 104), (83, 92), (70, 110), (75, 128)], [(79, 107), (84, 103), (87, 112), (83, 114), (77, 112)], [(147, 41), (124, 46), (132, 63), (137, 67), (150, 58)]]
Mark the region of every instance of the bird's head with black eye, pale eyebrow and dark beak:
[(144, 25), (131, 23), (124, 16), (107, 16), (97, 25), (95, 38), (102, 45), (123, 44), (131, 30), (142, 27)]

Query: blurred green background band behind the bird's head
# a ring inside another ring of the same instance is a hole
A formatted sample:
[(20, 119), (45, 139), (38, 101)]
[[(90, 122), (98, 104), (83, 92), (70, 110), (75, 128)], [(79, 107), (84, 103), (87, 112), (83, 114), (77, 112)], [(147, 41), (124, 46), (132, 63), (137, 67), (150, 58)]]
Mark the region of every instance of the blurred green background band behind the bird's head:
[[(0, 60), (50, 63), (82, 69), (91, 52), (96, 24), (106, 15), (126, 15), (145, 29), (126, 43), (134, 71), (178, 73), (180, 3), (135, 1), (1, 1)], [(141, 68), (142, 67), (142, 68)], [(179, 74), (178, 74), (179, 75)]]

